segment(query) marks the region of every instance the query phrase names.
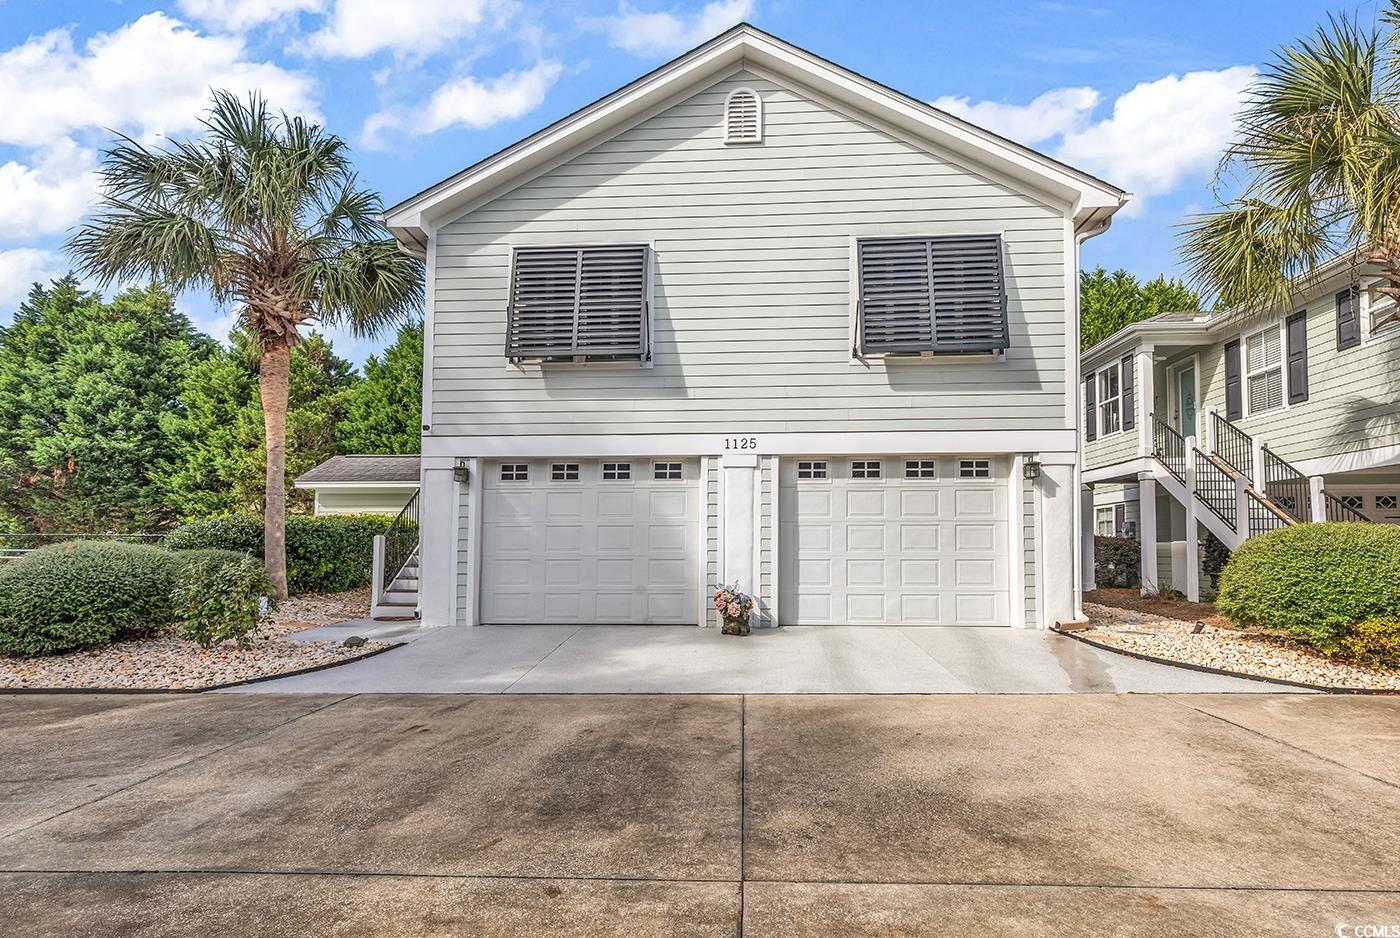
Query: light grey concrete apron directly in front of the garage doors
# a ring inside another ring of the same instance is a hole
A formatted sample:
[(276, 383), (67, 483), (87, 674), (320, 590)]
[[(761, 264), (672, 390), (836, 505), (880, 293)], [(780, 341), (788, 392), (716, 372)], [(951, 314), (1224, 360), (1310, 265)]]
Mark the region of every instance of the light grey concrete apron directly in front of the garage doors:
[(690, 626), (312, 629), (407, 644), (237, 693), (1214, 693), (1277, 685), (1155, 665), (1049, 631), (785, 627), (748, 638)]

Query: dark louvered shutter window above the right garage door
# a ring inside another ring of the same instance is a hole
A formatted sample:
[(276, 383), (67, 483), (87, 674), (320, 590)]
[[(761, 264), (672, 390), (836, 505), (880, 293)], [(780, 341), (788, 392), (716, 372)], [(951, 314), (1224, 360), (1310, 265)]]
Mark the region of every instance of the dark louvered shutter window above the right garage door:
[(869, 238), (860, 255), (861, 354), (1007, 349), (1001, 235)]

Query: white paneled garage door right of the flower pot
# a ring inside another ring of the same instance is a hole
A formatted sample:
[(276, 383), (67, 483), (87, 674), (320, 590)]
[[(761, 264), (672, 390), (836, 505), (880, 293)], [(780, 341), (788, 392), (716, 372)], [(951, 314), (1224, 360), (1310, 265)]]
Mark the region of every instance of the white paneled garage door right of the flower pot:
[(1009, 459), (832, 456), (781, 466), (785, 623), (1009, 623)]

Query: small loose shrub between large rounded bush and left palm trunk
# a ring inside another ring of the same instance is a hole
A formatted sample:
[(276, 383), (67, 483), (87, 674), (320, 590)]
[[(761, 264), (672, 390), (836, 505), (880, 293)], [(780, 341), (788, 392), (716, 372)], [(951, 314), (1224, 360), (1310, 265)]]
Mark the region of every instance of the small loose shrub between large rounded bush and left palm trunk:
[(171, 594), (176, 633), (206, 648), (230, 640), (245, 644), (263, 616), (263, 596), (270, 594), (272, 582), (256, 557), (214, 549), (186, 552)]

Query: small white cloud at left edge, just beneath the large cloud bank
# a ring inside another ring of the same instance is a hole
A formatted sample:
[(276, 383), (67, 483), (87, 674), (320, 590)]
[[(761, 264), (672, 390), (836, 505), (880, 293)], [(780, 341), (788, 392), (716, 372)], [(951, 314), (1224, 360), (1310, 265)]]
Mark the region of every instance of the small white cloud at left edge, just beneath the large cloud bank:
[(0, 241), (56, 234), (76, 224), (97, 193), (95, 154), (71, 140), (36, 153), (34, 165), (0, 165)]

